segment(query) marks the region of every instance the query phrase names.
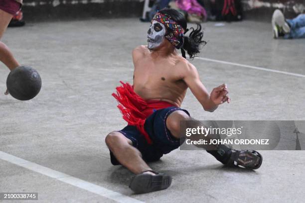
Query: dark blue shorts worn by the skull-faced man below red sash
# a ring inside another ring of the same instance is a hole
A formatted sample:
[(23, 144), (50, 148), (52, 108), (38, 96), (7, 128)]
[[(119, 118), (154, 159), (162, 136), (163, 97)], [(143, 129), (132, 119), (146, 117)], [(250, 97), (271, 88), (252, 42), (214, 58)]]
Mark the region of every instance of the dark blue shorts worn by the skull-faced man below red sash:
[[(167, 154), (180, 146), (180, 139), (173, 137), (166, 127), (168, 115), (176, 110), (183, 110), (189, 115), (187, 110), (172, 106), (156, 110), (146, 119), (144, 127), (152, 139), (152, 144), (147, 143), (144, 135), (139, 132), (136, 126), (127, 125), (118, 132), (133, 142), (133, 146), (142, 153), (143, 160), (147, 162), (157, 161), (163, 154)], [(111, 151), (110, 158), (113, 165), (120, 164)]]

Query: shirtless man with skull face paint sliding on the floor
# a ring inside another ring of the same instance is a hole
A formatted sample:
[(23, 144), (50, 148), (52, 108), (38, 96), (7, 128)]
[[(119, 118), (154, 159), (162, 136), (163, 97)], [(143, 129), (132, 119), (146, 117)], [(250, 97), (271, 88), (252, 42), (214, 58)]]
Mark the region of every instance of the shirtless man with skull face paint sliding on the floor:
[[(122, 164), (137, 174), (130, 184), (135, 193), (163, 190), (171, 184), (170, 176), (154, 172), (146, 162), (159, 160), (180, 146), (180, 121), (191, 120), (187, 110), (180, 108), (188, 88), (204, 110), (214, 111), (219, 104), (230, 102), (225, 84), (209, 94), (196, 68), (185, 59), (184, 50), (193, 58), (205, 43), (200, 25), (190, 28), (188, 37), (184, 35), (186, 27), (184, 16), (176, 10), (156, 13), (148, 31), (148, 46), (133, 51), (133, 86), (121, 82), (113, 94), (128, 125), (109, 133), (106, 144), (112, 164)], [(176, 49), (181, 49), (183, 57)], [(212, 139), (212, 135), (204, 139)], [(262, 164), (262, 156), (256, 151), (237, 151), (225, 145), (212, 147), (207, 151), (228, 166), (257, 169)], [(245, 155), (250, 162), (238, 161)]]

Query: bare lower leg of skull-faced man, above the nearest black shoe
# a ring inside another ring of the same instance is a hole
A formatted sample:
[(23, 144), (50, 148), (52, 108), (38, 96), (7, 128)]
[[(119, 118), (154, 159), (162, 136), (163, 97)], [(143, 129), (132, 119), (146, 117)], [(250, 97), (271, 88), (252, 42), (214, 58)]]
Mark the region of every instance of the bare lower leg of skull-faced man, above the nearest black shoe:
[[(114, 131), (107, 135), (106, 144), (117, 160), (135, 174), (152, 170), (142, 159), (141, 152), (132, 146), (132, 141), (122, 133)], [(147, 172), (151, 173), (151, 172)], [(153, 173), (151, 173), (154, 175)]]

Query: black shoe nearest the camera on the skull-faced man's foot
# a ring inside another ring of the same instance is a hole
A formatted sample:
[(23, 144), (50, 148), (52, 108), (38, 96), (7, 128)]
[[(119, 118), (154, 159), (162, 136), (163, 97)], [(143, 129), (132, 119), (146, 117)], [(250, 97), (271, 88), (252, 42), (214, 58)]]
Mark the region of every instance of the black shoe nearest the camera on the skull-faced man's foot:
[(145, 171), (136, 175), (129, 185), (136, 194), (164, 190), (171, 184), (171, 177), (154, 171)]

